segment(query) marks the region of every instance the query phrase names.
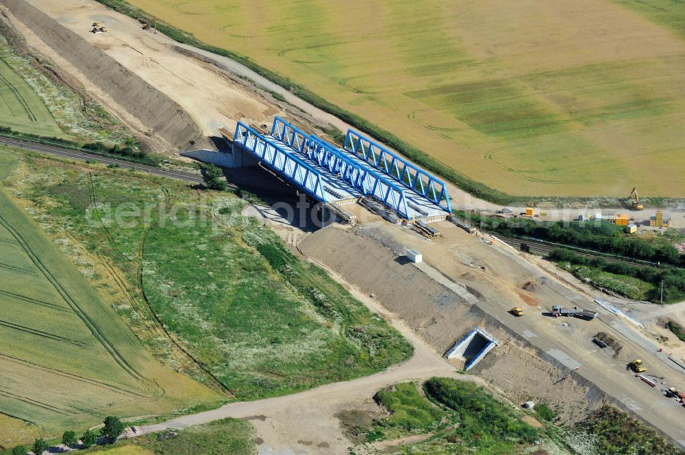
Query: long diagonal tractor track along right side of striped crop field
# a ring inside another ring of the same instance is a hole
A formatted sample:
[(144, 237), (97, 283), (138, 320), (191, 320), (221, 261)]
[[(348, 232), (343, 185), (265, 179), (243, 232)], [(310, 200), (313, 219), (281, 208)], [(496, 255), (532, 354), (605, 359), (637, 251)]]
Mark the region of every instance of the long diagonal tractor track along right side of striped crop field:
[[(8, 200), (5, 200), (5, 202), (9, 203)], [(19, 211), (18, 213), (21, 213), (21, 216), (24, 216), (24, 213)], [(129, 374), (129, 376), (132, 376), (132, 378), (136, 379), (137, 381), (142, 382), (143, 384), (147, 385), (149, 387), (150, 392), (152, 395), (155, 395), (154, 391), (159, 390), (159, 387), (155, 385), (155, 383), (148, 378), (145, 378), (145, 376), (142, 376), (140, 372), (136, 370), (134, 365), (132, 365), (126, 358), (119, 352), (119, 350), (114, 346), (114, 344), (108, 340), (100, 331), (99, 326), (95, 322), (93, 322), (90, 317), (79, 307), (79, 304), (76, 302), (76, 300), (69, 294), (64, 287), (60, 284), (57, 278), (53, 276), (53, 274), (50, 272), (49, 268), (42, 263), (40, 257), (36, 254), (32, 246), (27, 242), (23, 235), (19, 233), (16, 229), (14, 229), (14, 226), (12, 226), (10, 223), (8, 223), (6, 220), (4, 220), (2, 217), (0, 217), (0, 225), (3, 226), (7, 231), (10, 232), (12, 237), (14, 237), (17, 242), (21, 245), (23, 250), (27, 253), (29, 258), (32, 260), (32, 262), (36, 265), (36, 268), (42, 272), (42, 274), (45, 276), (45, 278), (53, 285), (55, 290), (62, 296), (66, 304), (73, 309), (73, 311), (79, 316), (79, 319), (84, 322), (88, 330), (90, 330), (90, 333), (92, 333), (93, 337), (99, 341), (101, 346), (105, 348), (105, 350), (112, 356), (112, 359), (119, 365), (121, 366), (125, 372)]]

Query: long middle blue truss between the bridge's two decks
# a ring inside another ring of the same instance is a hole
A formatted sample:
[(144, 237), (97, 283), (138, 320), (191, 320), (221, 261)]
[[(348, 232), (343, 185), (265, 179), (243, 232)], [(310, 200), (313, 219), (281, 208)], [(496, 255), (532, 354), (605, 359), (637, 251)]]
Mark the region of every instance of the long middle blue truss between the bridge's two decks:
[(364, 196), (373, 196), (404, 218), (410, 219), (404, 190), (366, 168), (315, 135), (307, 135), (282, 118), (273, 120), (271, 134), (284, 144), (295, 148), (316, 164), (334, 174)]

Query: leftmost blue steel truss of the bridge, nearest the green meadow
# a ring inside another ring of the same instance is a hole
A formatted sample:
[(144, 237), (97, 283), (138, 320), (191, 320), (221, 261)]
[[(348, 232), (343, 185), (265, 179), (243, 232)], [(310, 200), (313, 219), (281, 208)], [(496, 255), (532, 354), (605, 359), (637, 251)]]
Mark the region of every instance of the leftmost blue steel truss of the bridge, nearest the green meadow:
[(233, 140), (312, 198), (322, 203), (327, 202), (323, 191), (321, 172), (306, 162), (292, 153), (284, 151), (277, 144), (264, 138), (260, 133), (242, 122), (238, 122)]

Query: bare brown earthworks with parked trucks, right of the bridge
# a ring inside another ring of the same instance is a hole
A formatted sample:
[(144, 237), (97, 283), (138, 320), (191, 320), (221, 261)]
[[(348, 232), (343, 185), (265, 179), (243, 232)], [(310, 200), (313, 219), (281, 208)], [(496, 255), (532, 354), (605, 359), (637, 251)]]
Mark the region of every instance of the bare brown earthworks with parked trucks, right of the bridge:
[[(487, 245), (448, 222), (435, 226), (444, 237), (434, 241), (382, 220), (365, 222), (351, 231), (329, 227), (308, 236), (299, 247), (358, 285), (365, 294), (375, 293), (384, 307), (397, 313), (437, 352), (445, 352), (474, 325), (485, 326), (503, 343), (473, 372), (501, 389), (513, 402), (527, 395), (560, 406), (564, 417), (571, 420), (580, 417), (573, 415), (572, 409), (584, 404), (578, 391), (569, 393), (558, 388), (566, 382), (558, 382), (564, 374), (549, 378), (549, 369), (539, 365), (543, 359), (561, 372), (571, 372), (571, 378), (577, 378), (579, 384), (590, 386), (588, 393), (606, 393), (616, 404), (685, 446), (684, 409), (664, 398), (660, 391), (681, 387), (685, 374), (667, 359), (666, 352), (658, 352), (658, 346), (630, 323), (523, 261), (519, 253), (505, 246)], [(416, 267), (401, 261), (406, 248), (421, 251), (427, 264)], [(444, 290), (425, 285), (421, 288), (423, 297), (416, 292), (404, 298), (412, 292), (416, 270), (431, 276), (445, 289), (464, 289), (460, 285), (465, 285), (477, 296), (477, 302), (456, 301)], [(522, 289), (529, 281), (538, 283), (533, 291)], [(553, 304), (598, 311), (599, 317), (593, 321), (555, 319), (545, 314)], [(514, 306), (523, 307), (526, 315), (510, 315), (508, 310)], [(508, 333), (516, 337), (508, 337)], [(603, 350), (592, 342), (601, 333), (613, 340), (615, 350)], [(526, 346), (520, 346), (517, 339), (525, 340)], [(526, 348), (535, 350), (540, 359), (525, 356)], [(663, 377), (658, 387), (649, 387), (627, 371), (626, 364), (637, 358), (645, 361), (648, 374)], [(567, 400), (573, 406), (566, 406)]]

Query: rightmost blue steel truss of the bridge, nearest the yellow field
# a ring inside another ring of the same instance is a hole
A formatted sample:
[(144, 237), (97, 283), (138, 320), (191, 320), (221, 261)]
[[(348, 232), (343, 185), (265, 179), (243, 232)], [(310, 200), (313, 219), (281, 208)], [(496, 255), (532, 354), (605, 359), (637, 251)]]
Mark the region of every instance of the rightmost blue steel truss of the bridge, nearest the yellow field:
[(352, 129), (347, 130), (343, 148), (347, 153), (363, 159), (374, 168), (392, 177), (410, 191), (431, 200), (445, 211), (452, 211), (445, 182), (417, 168), (388, 148)]

